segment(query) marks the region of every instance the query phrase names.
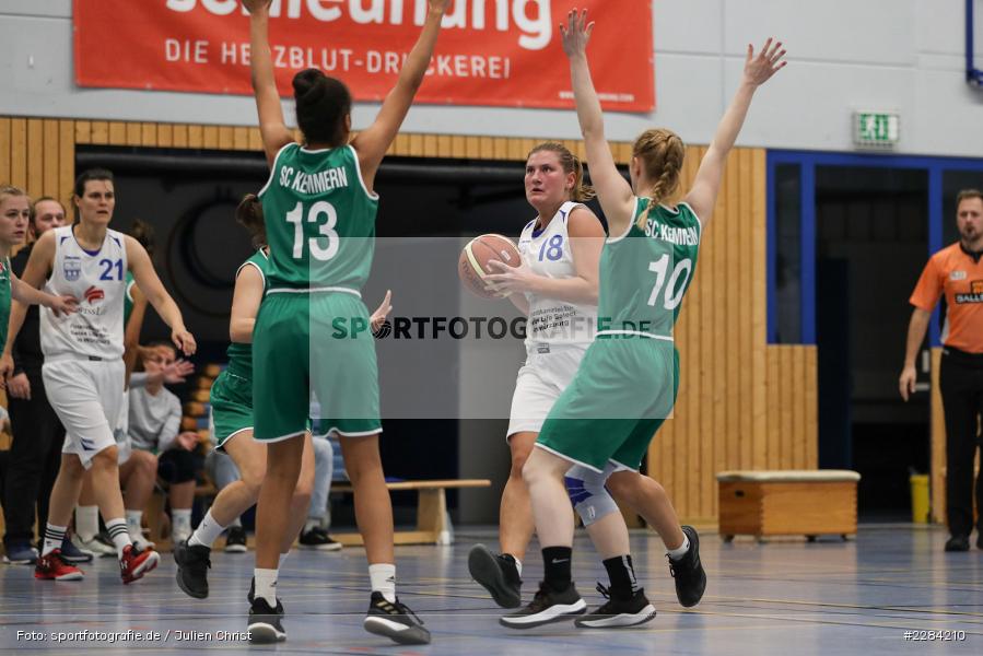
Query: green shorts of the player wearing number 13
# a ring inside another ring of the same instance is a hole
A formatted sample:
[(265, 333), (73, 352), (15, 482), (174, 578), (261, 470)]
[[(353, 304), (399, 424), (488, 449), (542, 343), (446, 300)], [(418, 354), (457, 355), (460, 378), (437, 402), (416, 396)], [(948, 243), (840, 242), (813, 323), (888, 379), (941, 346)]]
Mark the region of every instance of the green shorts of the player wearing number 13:
[(267, 293), (253, 330), (254, 437), (307, 429), (311, 394), (328, 432), (382, 431), (375, 338), (362, 300), (344, 292)]

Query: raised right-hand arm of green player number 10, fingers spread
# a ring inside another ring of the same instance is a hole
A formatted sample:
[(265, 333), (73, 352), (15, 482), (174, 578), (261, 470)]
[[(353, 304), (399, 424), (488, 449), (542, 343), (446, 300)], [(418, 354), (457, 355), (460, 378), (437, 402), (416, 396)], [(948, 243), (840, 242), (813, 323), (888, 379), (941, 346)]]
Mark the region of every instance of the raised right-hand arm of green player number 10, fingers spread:
[(730, 153), (730, 149), (734, 148), (737, 134), (744, 126), (754, 92), (759, 86), (768, 82), (772, 75), (785, 68), (787, 62), (782, 59), (784, 56), (785, 50), (782, 49), (782, 42), (772, 45), (772, 39), (769, 38), (757, 57), (754, 56), (754, 46), (748, 45), (744, 79), (737, 89), (737, 93), (734, 95), (734, 99), (730, 101), (730, 106), (727, 107), (724, 118), (721, 119), (717, 126), (713, 142), (703, 156), (703, 161), (700, 162), (697, 179), (686, 197), (686, 201), (690, 203), (690, 207), (700, 216), (704, 229), (716, 204), (727, 155)]

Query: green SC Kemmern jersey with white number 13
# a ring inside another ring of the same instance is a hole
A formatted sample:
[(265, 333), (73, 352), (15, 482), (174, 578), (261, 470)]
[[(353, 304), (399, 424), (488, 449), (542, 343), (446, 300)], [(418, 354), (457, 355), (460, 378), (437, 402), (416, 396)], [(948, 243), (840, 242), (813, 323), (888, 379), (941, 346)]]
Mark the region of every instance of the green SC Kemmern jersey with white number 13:
[(372, 269), (378, 196), (365, 188), (351, 145), (283, 147), (259, 198), (271, 290), (362, 289)]

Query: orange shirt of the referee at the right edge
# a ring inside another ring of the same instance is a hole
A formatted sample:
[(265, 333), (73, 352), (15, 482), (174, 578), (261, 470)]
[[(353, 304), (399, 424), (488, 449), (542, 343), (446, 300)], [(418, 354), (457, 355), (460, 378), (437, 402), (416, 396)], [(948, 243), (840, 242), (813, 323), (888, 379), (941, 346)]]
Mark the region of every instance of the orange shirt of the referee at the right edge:
[(943, 343), (968, 353), (983, 353), (983, 258), (957, 242), (932, 256), (910, 302), (925, 312), (935, 309), (946, 294)]

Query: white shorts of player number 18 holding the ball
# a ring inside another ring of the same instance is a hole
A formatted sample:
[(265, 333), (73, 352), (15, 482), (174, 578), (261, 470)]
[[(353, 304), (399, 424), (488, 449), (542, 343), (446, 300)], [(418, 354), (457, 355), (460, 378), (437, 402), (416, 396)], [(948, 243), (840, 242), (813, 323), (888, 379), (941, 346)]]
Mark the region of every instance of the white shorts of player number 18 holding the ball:
[(512, 395), (505, 440), (516, 433), (538, 433), (553, 403), (573, 380), (588, 344), (531, 344)]

